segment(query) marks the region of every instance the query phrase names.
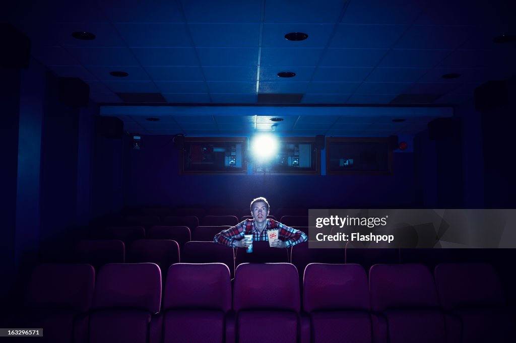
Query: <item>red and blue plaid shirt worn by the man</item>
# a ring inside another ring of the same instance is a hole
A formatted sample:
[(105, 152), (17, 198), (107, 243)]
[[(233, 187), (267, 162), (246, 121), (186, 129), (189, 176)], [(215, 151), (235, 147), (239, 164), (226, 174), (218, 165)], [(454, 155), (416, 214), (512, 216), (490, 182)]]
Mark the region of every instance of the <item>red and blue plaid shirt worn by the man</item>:
[(272, 219), (267, 219), (267, 226), (260, 233), (254, 225), (254, 219), (246, 219), (243, 222), (216, 234), (213, 241), (216, 243), (224, 244), (225, 246), (235, 248), (236, 241), (243, 239), (244, 235), (252, 234), (253, 241), (268, 241), (269, 237), (267, 236), (267, 230), (272, 230), (276, 228), (279, 230), (280, 239), (284, 240), (287, 244), (287, 248), (290, 248), (298, 243), (302, 243), (308, 240), (308, 237), (304, 232), (283, 225), (282, 223)]

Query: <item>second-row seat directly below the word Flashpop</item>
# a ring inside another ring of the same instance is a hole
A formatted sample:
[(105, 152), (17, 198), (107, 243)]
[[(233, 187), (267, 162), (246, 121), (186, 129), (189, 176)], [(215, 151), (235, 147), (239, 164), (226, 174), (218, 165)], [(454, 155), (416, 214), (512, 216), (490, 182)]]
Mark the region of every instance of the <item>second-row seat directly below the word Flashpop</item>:
[(365, 270), (377, 264), (398, 264), (398, 248), (354, 248), (348, 241), (346, 244), (346, 263), (359, 264)]

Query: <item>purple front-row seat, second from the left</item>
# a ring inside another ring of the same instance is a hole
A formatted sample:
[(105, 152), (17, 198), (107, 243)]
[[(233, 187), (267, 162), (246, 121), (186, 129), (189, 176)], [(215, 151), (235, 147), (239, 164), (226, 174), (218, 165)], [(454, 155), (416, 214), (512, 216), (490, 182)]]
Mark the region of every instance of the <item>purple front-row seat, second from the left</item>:
[(151, 319), (159, 312), (161, 292), (161, 273), (156, 264), (102, 267), (95, 284), (89, 342), (148, 342)]

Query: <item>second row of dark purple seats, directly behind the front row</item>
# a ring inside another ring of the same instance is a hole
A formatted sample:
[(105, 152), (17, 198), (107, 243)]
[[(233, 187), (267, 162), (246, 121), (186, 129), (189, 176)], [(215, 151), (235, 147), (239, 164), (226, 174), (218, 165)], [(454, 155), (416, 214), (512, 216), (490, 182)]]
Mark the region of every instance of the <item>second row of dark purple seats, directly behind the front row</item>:
[(253, 242), (253, 253), (248, 254), (244, 249), (231, 249), (212, 241), (186, 241), (181, 245), (181, 240), (170, 234), (175, 231), (158, 232), (160, 235), (154, 237), (169, 239), (138, 239), (127, 245), (120, 240), (80, 241), (75, 250), (76, 261), (96, 268), (107, 263), (152, 262), (162, 270), (177, 262), (218, 262), (226, 264), (233, 275), (234, 268), (242, 263), (292, 263), (298, 270), (304, 270), (310, 263), (360, 264), (366, 270), (379, 263), (422, 263), (433, 269), (445, 262), (490, 262), (498, 265), (500, 261), (511, 258), (510, 254), (504, 254), (507, 252), (504, 249), (365, 249), (349, 246), (346, 249), (313, 249), (308, 242), (291, 249), (277, 249), (262, 241)]

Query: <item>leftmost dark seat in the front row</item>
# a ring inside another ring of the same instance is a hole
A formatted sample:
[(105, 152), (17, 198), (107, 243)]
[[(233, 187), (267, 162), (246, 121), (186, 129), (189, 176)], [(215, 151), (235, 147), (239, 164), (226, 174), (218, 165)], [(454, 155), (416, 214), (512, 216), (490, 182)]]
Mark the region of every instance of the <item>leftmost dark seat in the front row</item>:
[[(30, 276), (24, 308), (15, 315), (15, 328), (43, 328), (43, 337), (14, 341), (86, 343), (95, 271), (87, 264), (37, 266)], [(7, 340), (7, 338), (4, 338)]]

